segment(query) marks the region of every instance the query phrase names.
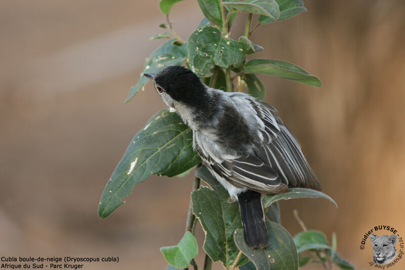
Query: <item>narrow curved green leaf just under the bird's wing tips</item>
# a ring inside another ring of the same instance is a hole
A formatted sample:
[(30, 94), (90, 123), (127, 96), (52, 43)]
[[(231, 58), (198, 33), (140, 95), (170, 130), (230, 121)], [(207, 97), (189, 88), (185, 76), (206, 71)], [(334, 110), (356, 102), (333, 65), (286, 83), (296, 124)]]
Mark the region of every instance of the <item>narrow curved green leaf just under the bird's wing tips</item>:
[(304, 188), (292, 188), (286, 193), (266, 195), (266, 197), (262, 199), (262, 202), (263, 207), (268, 207), (270, 204), (279, 200), (290, 200), (296, 198), (325, 198), (330, 200), (336, 208), (338, 207), (336, 202), (325, 193)]

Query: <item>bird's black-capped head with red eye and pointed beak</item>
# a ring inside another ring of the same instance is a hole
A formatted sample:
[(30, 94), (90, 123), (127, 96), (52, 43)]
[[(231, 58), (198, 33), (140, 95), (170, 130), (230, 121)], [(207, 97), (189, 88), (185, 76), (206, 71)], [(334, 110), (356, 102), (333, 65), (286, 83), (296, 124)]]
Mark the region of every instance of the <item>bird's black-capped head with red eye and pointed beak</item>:
[(207, 95), (206, 86), (191, 70), (183, 66), (169, 66), (156, 75), (144, 75), (153, 80), (156, 91), (168, 106), (175, 107), (176, 102), (194, 108), (203, 106)]

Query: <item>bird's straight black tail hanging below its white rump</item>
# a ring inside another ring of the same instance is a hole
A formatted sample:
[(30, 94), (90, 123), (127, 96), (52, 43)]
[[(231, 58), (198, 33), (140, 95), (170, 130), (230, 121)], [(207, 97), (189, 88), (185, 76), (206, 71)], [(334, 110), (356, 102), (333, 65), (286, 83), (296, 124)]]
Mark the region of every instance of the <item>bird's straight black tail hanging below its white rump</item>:
[(248, 190), (238, 194), (237, 198), (246, 244), (253, 249), (266, 247), (269, 236), (264, 222), (261, 194)]

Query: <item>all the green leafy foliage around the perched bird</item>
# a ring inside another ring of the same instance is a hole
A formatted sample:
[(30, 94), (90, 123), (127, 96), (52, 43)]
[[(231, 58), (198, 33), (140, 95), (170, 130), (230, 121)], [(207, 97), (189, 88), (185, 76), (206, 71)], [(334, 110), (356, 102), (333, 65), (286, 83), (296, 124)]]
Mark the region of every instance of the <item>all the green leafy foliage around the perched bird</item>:
[[(306, 11), (301, 0), (197, 0), (205, 19), (185, 39), (187, 42), (174, 31), (169, 20), (173, 5), (180, 1), (159, 2), (161, 12), (166, 15), (165, 22), (159, 27), (167, 31), (154, 34), (150, 39), (171, 39), (146, 59), (138, 82), (131, 88), (126, 102), (149, 81), (143, 76), (144, 73), (157, 73), (166, 66), (183, 63), (211, 87), (228, 92), (233, 89), (246, 91), (261, 100), (264, 100), (266, 88), (257, 74), (321, 86), (316, 76), (297, 65), (280, 60), (249, 59), (250, 55), (264, 50), (251, 41), (251, 33), (258, 26), (285, 20)], [(238, 40), (233, 40), (229, 37), (228, 30), (233, 19), (241, 12), (249, 14), (245, 34)], [(254, 21), (257, 19), (258, 24), (251, 30), (253, 14)], [(233, 77), (231, 72), (234, 72)], [(101, 196), (100, 217), (108, 216), (123, 204), (123, 199), (131, 194), (133, 188), (151, 174), (184, 176), (199, 162), (200, 158), (192, 148), (190, 128), (176, 113), (169, 110), (158, 112), (135, 135), (113, 171)], [(196, 176), (203, 179), (209, 187), (199, 187), (192, 192), (188, 231), (179, 244), (161, 248), (164, 257), (171, 264), (167, 270), (186, 268), (189, 263), (195, 265), (193, 258), (197, 255), (198, 248), (190, 233), (194, 231), (194, 215), (206, 234), (203, 248), (207, 256), (214, 261), (221, 261), (227, 268), (240, 266), (241, 270), (297, 269), (298, 265), (311, 262), (311, 256), (301, 253), (312, 253), (316, 254), (316, 260), (312, 260), (314, 263), (335, 263), (343, 269), (354, 269), (350, 262), (340, 258), (336, 252), (336, 237), (333, 237), (330, 247), (321, 232), (306, 231), (293, 239), (280, 225), (279, 200), (326, 198), (337, 206), (328, 195), (294, 188), (285, 194), (265, 196), (263, 205), (266, 208), (266, 217), (270, 220), (267, 222), (270, 244), (265, 249), (252, 250), (244, 240), (237, 202), (230, 201), (227, 191), (205, 166), (197, 169)], [(198, 186), (196, 183), (198, 181), (194, 182), (195, 188)]]

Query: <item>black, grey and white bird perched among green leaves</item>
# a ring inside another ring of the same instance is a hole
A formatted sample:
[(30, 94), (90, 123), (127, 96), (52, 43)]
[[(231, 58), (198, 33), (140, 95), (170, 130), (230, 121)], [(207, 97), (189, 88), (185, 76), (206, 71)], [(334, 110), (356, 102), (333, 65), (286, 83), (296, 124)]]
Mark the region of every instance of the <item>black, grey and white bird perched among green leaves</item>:
[(276, 110), (249, 94), (204, 84), (184, 66), (144, 73), (193, 132), (193, 148), (239, 204), (246, 244), (268, 246), (262, 196), (289, 187), (321, 190), (301, 146)]

